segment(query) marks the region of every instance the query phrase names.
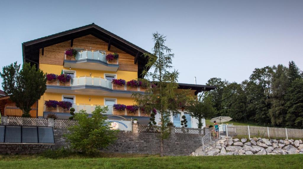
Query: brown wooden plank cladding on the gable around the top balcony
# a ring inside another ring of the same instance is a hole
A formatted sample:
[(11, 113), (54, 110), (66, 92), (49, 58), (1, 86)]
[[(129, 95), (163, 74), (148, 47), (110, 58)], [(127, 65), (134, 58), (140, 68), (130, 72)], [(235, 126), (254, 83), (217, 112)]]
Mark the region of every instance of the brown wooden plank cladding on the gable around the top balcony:
[[(110, 51), (107, 50), (108, 44), (96, 38), (93, 35), (83, 36), (76, 38), (73, 41), (73, 47), (71, 47), (71, 41), (65, 41), (56, 45), (48, 46), (44, 48), (44, 55), (42, 56), (42, 49), (40, 49), (39, 63), (63, 65), (64, 52), (68, 48), (80, 48), (91, 50), (102, 50), (106, 53), (118, 53), (119, 54), (119, 68), (122, 71), (138, 71), (138, 64), (134, 64), (135, 57), (128, 53), (111, 46)], [(72, 59), (72, 58), (71, 58)], [(68, 58), (69, 60), (69, 58)]]

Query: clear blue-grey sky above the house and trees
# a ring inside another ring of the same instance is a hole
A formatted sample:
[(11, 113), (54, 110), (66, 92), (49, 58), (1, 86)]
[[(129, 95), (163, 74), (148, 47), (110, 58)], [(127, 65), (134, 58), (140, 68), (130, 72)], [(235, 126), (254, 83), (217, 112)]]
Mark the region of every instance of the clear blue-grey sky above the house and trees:
[(303, 69), (303, 1), (0, 1), (0, 67), (22, 62), (22, 42), (94, 22), (151, 51), (167, 36), (179, 82), (241, 82), (254, 68)]

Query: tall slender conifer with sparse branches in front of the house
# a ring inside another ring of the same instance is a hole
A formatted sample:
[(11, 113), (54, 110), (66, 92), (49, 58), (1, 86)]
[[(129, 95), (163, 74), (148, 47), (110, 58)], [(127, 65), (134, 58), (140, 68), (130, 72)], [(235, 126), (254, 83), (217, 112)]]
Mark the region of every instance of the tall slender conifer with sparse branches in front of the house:
[[(151, 81), (155, 87), (149, 88), (145, 94), (134, 93), (136, 103), (144, 106), (145, 110), (150, 112), (152, 109), (157, 110), (160, 121), (160, 156), (164, 156), (164, 140), (168, 138), (170, 130), (170, 115), (178, 113), (178, 107), (186, 103), (189, 92), (182, 90), (178, 92), (178, 71), (171, 70), (173, 66), (171, 49), (165, 46), (165, 36), (157, 33), (153, 34), (155, 46), (153, 54), (145, 53), (144, 57), (148, 58), (145, 69), (142, 73), (146, 79), (140, 79), (146, 82)], [(151, 68), (153, 72), (148, 72)]]

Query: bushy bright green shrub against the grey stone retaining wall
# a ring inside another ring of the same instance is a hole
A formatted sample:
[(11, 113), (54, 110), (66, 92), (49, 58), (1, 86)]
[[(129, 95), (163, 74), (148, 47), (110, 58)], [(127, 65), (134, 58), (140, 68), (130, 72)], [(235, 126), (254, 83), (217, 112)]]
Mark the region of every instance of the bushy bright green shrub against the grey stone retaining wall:
[(78, 120), (78, 125), (69, 127), (70, 133), (65, 134), (73, 150), (89, 155), (96, 154), (117, 139), (119, 131), (112, 130), (111, 123), (103, 116), (107, 111), (108, 107), (96, 106), (92, 118), (88, 118), (85, 110), (75, 114), (74, 119)]

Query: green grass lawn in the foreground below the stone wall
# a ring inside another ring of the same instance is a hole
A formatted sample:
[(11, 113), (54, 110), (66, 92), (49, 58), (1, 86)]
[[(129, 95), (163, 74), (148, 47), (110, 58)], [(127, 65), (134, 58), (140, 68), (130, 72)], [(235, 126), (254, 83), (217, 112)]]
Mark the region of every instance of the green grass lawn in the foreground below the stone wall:
[(302, 168), (303, 154), (214, 157), (0, 157), (0, 168)]

